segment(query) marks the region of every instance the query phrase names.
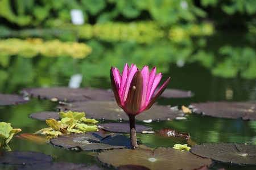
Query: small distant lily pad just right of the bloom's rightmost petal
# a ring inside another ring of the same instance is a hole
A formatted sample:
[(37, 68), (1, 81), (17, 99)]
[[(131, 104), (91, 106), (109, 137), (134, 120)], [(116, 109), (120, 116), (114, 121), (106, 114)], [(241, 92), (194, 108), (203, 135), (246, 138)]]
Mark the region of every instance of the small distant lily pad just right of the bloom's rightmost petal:
[[(156, 88), (155, 93), (158, 92), (159, 88)], [(192, 97), (194, 94), (191, 91), (184, 91), (184, 90), (177, 90), (177, 89), (171, 89), (166, 88), (164, 90), (161, 97), (165, 98), (184, 98), (184, 97)]]

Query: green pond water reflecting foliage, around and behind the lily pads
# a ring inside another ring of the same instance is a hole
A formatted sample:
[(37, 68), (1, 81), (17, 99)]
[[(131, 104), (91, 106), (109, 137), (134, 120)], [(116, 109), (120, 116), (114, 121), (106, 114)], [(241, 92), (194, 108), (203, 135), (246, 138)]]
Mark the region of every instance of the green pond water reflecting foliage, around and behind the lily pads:
[[(111, 88), (110, 67), (122, 70), (127, 63), (136, 63), (138, 68), (144, 65), (156, 66), (163, 72), (163, 80), (171, 76), (168, 88), (191, 90), (195, 96), (187, 99), (160, 98), (160, 105), (188, 106), (191, 103), (205, 101), (256, 101), (255, 48), (253, 43), (242, 39), (243, 35), (231, 36), (237, 41), (220, 39), (220, 35), (189, 39), (184, 42), (171, 42), (163, 39), (152, 44), (137, 42), (105, 42), (89, 40), (86, 44), (93, 48), (92, 54), (84, 59), (71, 57), (47, 58), (36, 56), (0, 56), (0, 92), (19, 94), (22, 88), (68, 86), (71, 75), (83, 75), (81, 87)], [(216, 36), (218, 38), (216, 38)], [(235, 43), (236, 42), (236, 43)], [(0, 107), (0, 120), (20, 128), (20, 133), (33, 133), (46, 128), (43, 121), (32, 120), (30, 113), (56, 111), (57, 103), (48, 100), (32, 99), (30, 103)], [(109, 121), (104, 121), (109, 122)], [(117, 122), (117, 121), (111, 121)], [(102, 123), (102, 122), (101, 122)], [(254, 143), (256, 144), (256, 121), (233, 120), (191, 114), (187, 120), (151, 122), (152, 130), (167, 127), (189, 133), (197, 144), (218, 143)], [(144, 145), (152, 148), (173, 147), (176, 143), (185, 144), (183, 138), (162, 137), (156, 134), (138, 134)], [(93, 152), (72, 152), (50, 146), (13, 138), (12, 150), (44, 152), (52, 155), (55, 162), (97, 163)], [(214, 163), (211, 169), (253, 169)], [(106, 168), (106, 167), (105, 167)], [(255, 168), (255, 167), (254, 167)]]

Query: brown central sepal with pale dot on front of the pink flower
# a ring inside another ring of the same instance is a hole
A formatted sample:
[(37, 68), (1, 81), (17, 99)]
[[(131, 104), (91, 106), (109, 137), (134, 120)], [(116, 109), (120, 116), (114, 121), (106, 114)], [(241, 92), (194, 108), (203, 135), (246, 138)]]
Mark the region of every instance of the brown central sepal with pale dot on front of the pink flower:
[(141, 99), (143, 94), (143, 76), (141, 71), (137, 71), (130, 83), (125, 108), (127, 114), (136, 114), (141, 109)]

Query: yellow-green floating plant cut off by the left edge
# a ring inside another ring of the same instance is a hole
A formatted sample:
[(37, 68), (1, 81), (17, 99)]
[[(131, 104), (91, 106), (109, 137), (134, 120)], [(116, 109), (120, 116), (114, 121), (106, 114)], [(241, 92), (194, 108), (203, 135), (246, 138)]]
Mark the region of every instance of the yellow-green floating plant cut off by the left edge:
[(13, 129), (10, 123), (0, 122), (0, 147), (6, 146), (13, 138), (13, 135), (21, 129)]

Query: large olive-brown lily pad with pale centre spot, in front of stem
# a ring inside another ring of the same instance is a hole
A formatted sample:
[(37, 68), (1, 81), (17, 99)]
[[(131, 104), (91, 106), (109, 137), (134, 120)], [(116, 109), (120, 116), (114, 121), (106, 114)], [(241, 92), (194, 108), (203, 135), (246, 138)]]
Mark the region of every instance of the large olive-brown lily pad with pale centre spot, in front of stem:
[(148, 150), (108, 150), (97, 155), (104, 164), (119, 167), (121, 165), (141, 165), (149, 169), (195, 169), (210, 165), (210, 159), (200, 158), (191, 152), (175, 150), (174, 148), (158, 147)]

